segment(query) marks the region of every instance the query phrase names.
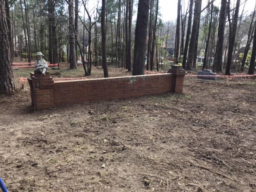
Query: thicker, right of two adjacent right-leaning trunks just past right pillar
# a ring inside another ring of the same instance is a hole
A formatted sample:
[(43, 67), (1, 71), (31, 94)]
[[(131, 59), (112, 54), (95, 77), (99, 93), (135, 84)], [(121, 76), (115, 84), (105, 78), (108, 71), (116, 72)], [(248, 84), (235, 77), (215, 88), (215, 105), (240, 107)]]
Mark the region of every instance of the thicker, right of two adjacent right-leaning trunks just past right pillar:
[(195, 1), (194, 20), (193, 20), (193, 26), (192, 26), (191, 40), (189, 44), (189, 54), (188, 54), (187, 65), (186, 65), (187, 70), (191, 69), (191, 66), (193, 63), (195, 43), (197, 38), (197, 28), (198, 28), (198, 23), (200, 22), (199, 18), (201, 14), (201, 5), (202, 5), (202, 0)]

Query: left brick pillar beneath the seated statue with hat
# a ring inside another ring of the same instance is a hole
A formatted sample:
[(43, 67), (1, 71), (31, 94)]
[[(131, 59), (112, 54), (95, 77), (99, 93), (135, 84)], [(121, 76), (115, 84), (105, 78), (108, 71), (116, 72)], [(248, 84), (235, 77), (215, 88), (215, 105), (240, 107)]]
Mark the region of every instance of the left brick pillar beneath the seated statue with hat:
[(30, 85), (32, 107), (35, 110), (54, 107), (54, 81), (53, 78), (50, 77), (50, 73), (46, 72), (45, 75), (37, 72), (30, 73), (30, 78), (28, 78), (28, 81)]

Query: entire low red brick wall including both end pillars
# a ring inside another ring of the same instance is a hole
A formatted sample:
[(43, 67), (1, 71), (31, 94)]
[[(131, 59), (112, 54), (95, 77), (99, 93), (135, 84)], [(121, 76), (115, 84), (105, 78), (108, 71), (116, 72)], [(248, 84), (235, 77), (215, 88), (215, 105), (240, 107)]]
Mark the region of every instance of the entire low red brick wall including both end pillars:
[(98, 101), (178, 92), (183, 89), (181, 74), (151, 74), (129, 77), (56, 81), (50, 77), (31, 74), (29, 78), (32, 106), (35, 110), (67, 103)]

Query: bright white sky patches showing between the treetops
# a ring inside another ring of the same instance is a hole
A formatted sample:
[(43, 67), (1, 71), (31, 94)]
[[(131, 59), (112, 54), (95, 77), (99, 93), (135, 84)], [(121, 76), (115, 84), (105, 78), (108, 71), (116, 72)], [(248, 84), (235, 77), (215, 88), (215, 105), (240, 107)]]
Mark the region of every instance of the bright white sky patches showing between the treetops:
[[(88, 5), (89, 5), (89, 10), (95, 8), (95, 6), (97, 6), (97, 2), (98, 0), (87, 0), (88, 1)], [(135, 1), (135, 5), (137, 5), (138, 0), (134, 0)], [(181, 0), (182, 5), (185, 5), (185, 11), (187, 8), (187, 5), (189, 4), (190, 0)], [(255, 0), (247, 0), (246, 3), (244, 4), (246, 0), (241, 0), (242, 5), (239, 8), (239, 12), (240, 14), (242, 13), (242, 9), (243, 6), (245, 5), (245, 9), (244, 9), (244, 14), (250, 14), (255, 7)], [(101, 7), (101, 0), (99, 0), (99, 7)], [(207, 5), (208, 0), (202, 0), (202, 9)], [(231, 9), (234, 7), (236, 3), (236, 0), (231, 0)], [(161, 19), (163, 21), (175, 21), (177, 18), (177, 5), (178, 5), (178, 0), (159, 0), (159, 11), (162, 15)], [(214, 5), (218, 6), (219, 8), (221, 7), (221, 0), (215, 0), (214, 1)], [(137, 17), (137, 6), (133, 7), (134, 11), (136, 11), (136, 13), (133, 15), (133, 21), (136, 20)], [(80, 14), (83, 14), (83, 6), (81, 6), (80, 9)], [(182, 8), (183, 10), (183, 8)], [(183, 11), (182, 11), (183, 12)]]

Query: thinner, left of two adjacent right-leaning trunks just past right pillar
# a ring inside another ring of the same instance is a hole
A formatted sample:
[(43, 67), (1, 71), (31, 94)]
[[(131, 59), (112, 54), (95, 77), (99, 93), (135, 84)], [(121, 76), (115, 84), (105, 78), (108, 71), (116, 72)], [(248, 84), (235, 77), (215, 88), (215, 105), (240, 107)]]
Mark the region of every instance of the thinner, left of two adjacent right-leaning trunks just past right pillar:
[(189, 36), (191, 31), (191, 22), (192, 22), (192, 14), (193, 14), (193, 2), (194, 0), (190, 0), (189, 4), (189, 19), (187, 22), (187, 34), (186, 34), (186, 41), (185, 41), (185, 47), (184, 47), (184, 53), (183, 53), (183, 62), (182, 62), (182, 68), (186, 68), (186, 60), (187, 60), (187, 50), (189, 47)]

